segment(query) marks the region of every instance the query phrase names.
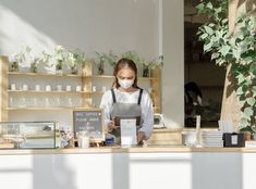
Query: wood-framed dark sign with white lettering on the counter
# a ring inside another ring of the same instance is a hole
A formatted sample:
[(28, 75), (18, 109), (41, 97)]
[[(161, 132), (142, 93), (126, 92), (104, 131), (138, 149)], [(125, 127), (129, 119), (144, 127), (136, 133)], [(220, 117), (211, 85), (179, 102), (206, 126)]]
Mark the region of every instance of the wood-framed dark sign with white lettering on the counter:
[(102, 109), (83, 109), (73, 111), (74, 134), (87, 131), (90, 142), (105, 140)]

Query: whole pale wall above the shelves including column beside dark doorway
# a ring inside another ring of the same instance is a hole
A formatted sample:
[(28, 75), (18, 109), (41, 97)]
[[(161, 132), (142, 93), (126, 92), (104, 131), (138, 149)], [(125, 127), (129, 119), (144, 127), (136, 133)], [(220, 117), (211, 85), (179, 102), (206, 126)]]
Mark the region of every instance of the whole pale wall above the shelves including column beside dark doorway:
[(135, 50), (150, 60), (163, 54), (166, 124), (183, 126), (183, 1), (1, 0), (0, 23), (0, 54), (25, 45), (35, 53), (51, 51), (56, 43), (89, 55)]

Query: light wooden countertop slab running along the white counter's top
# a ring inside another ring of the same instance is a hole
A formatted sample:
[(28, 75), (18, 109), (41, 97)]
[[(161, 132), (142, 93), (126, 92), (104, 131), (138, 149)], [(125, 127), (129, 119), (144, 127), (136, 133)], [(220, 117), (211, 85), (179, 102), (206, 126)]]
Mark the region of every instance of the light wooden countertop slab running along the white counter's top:
[(185, 146), (94, 147), (88, 149), (0, 150), (0, 155), (26, 154), (100, 154), (100, 153), (256, 153), (256, 148), (194, 148)]

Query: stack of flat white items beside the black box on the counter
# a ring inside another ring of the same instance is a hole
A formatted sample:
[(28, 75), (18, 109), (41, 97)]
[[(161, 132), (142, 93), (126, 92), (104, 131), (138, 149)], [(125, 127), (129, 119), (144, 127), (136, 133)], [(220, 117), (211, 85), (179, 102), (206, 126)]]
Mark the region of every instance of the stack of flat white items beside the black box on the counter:
[(202, 130), (202, 144), (204, 147), (223, 147), (222, 131)]

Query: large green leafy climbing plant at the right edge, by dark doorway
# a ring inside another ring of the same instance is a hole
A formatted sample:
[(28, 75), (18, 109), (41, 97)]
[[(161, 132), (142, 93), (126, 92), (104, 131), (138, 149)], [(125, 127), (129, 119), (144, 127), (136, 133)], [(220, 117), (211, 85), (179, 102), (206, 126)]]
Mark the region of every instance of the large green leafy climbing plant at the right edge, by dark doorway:
[(256, 130), (256, 28), (255, 18), (241, 15), (235, 32), (229, 33), (228, 1), (205, 0), (197, 5), (198, 13), (208, 15), (209, 22), (198, 29), (204, 51), (211, 54), (217, 65), (230, 65), (229, 75), (235, 78), (235, 93), (241, 103), (240, 129), (248, 126)]

